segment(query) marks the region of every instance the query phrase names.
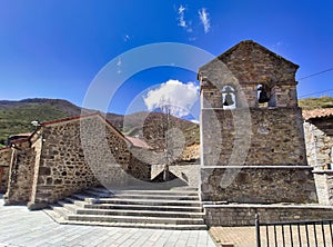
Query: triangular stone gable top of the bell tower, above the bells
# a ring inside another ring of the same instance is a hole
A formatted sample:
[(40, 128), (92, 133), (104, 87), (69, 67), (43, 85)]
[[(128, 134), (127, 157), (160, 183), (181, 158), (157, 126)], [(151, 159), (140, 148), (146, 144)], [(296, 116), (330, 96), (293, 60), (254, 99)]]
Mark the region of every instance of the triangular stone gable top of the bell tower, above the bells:
[(200, 68), (199, 76), (210, 79), (212, 69), (216, 70), (219, 62), (226, 66), (229, 77), (234, 77), (240, 83), (295, 83), (299, 68), (252, 40), (241, 41), (218, 56)]

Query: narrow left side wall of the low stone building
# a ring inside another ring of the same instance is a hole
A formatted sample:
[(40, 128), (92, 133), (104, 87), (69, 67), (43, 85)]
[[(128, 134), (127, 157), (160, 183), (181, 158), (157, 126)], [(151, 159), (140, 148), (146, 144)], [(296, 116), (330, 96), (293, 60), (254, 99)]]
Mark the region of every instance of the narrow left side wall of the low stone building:
[(6, 205), (26, 205), (30, 200), (34, 158), (34, 149), (30, 148), (28, 140), (16, 144), (9, 170), (8, 189), (4, 195)]

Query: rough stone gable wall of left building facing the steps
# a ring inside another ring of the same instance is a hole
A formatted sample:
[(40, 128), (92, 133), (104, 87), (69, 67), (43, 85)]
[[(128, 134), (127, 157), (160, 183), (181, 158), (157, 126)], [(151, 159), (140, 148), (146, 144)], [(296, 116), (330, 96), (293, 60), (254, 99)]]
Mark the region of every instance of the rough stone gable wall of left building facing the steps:
[(91, 186), (150, 178), (150, 167), (131, 157), (122, 136), (101, 117), (47, 125), (42, 138), (31, 204), (43, 207)]

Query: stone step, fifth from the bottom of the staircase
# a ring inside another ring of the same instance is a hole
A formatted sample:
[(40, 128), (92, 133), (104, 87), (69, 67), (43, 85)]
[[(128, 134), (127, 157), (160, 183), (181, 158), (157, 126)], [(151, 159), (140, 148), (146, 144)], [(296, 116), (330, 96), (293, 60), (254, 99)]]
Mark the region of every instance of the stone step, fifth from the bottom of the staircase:
[[(87, 201), (87, 200), (85, 200)], [(91, 200), (89, 200), (91, 201)], [(89, 202), (87, 201), (87, 202)], [(196, 200), (162, 200), (162, 199), (128, 199), (128, 198), (100, 198), (92, 204), (122, 204), (122, 205), (151, 205), (151, 206), (188, 206), (200, 207), (201, 202)]]

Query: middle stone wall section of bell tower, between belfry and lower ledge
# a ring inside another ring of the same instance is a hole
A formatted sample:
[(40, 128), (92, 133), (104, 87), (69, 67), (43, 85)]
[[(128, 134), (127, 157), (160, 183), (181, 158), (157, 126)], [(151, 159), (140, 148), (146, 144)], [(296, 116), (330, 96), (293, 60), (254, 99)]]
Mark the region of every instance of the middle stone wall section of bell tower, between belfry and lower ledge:
[[(251, 122), (238, 118), (238, 111), (242, 110), (202, 110), (204, 166), (239, 165), (230, 158), (241, 138), (250, 141), (246, 166), (306, 165), (300, 108), (250, 109)], [(245, 122), (235, 128), (235, 121)]]

